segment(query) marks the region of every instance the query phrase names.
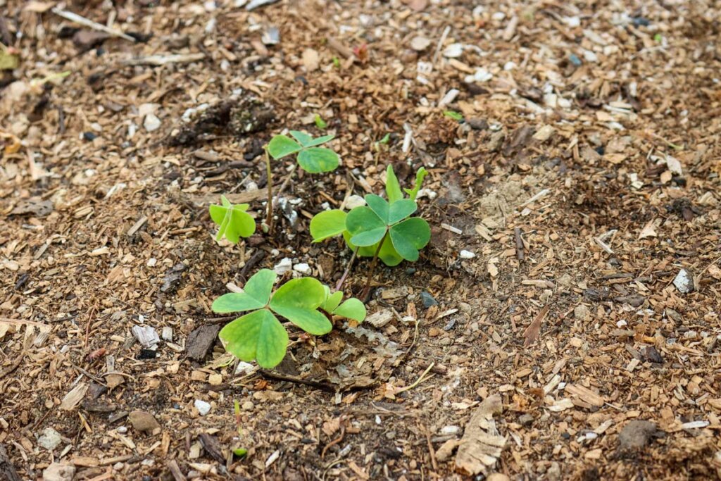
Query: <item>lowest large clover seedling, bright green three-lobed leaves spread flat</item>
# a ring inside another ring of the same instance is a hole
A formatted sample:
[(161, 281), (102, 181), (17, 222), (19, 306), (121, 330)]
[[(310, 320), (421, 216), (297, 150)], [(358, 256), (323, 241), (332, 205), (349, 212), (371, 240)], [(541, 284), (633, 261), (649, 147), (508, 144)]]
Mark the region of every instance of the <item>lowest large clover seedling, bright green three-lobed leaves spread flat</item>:
[(366, 309), (358, 308), (358, 299), (340, 304), (338, 293), (330, 295), (327, 287), (314, 278), (291, 279), (271, 295), (276, 277), (273, 270), (259, 270), (245, 283), (242, 293), (224, 294), (213, 302), (213, 312), (252, 311), (230, 322), (219, 334), (226, 350), (242, 361), (255, 360), (267, 369), (283, 361), (288, 332), (276, 315), (311, 335), (332, 330), (328, 316), (319, 310), (323, 307), (331, 314), (358, 322), (366, 318)]

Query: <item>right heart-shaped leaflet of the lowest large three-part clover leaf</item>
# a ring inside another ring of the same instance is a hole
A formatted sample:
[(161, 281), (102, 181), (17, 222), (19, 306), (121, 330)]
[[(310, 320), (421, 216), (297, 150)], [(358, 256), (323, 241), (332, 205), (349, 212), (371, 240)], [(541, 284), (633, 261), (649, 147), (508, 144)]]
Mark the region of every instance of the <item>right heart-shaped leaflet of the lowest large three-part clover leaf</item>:
[(317, 309), (325, 300), (322, 283), (314, 278), (292, 279), (275, 291), (270, 309), (312, 335), (324, 335), (333, 326)]

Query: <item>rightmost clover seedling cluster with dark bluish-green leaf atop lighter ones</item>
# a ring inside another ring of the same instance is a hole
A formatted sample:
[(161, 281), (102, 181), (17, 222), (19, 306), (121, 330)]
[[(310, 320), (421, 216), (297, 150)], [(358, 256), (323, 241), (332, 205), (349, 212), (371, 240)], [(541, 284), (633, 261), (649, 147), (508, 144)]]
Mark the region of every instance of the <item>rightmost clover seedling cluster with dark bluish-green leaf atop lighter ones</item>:
[(314, 242), (342, 235), (351, 250), (360, 257), (373, 257), (368, 273), (370, 281), (376, 259), (386, 265), (398, 265), (402, 260), (418, 260), (418, 251), (430, 240), (430, 226), (420, 217), (410, 217), (417, 210), (415, 199), (428, 172), (418, 169), (415, 185), (405, 189), (404, 198), (393, 167), (386, 169), (386, 195), (366, 195), (368, 206), (353, 208), (349, 213), (333, 209), (318, 213), (311, 219)]

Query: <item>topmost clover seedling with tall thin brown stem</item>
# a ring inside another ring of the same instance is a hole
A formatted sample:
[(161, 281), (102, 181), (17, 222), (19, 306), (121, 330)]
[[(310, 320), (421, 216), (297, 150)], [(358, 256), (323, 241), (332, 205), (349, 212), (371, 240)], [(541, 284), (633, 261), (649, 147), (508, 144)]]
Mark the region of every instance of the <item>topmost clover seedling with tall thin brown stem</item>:
[[(318, 123), (319, 119), (325, 124), (323, 119), (318, 115), (316, 116), (316, 123)], [(321, 128), (320, 125), (319, 128)], [(313, 138), (307, 133), (300, 131), (290, 131), (290, 134), (293, 138), (284, 135), (274, 136), (265, 147), (265, 167), (267, 170), (268, 186), (267, 217), (265, 224), (271, 232), (273, 231), (273, 171), (270, 169), (270, 157), (278, 160), (296, 154), (297, 163), (293, 165), (293, 169), (291, 169), (291, 172), (288, 174), (288, 179), (293, 175), (298, 165), (306, 172), (319, 174), (320, 172), (331, 172), (337, 169), (340, 164), (338, 154), (327, 147), (319, 147), (319, 145), (332, 141), (335, 136), (328, 135)], [(270, 156), (268, 156), (269, 154)], [(286, 182), (283, 182), (283, 185), (285, 185), (285, 183)], [(282, 191), (283, 187), (280, 187), (280, 190)]]

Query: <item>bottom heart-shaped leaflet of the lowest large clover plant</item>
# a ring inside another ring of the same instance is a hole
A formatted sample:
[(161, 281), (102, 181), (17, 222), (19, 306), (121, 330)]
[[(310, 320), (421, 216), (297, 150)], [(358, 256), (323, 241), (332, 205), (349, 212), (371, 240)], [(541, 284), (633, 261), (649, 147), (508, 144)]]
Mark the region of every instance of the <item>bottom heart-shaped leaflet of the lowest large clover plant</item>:
[(219, 337), (233, 356), (246, 362), (255, 359), (266, 369), (278, 366), (288, 348), (286, 328), (267, 309), (235, 319), (221, 330)]

